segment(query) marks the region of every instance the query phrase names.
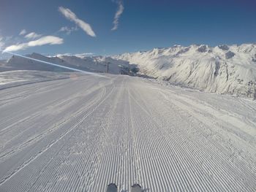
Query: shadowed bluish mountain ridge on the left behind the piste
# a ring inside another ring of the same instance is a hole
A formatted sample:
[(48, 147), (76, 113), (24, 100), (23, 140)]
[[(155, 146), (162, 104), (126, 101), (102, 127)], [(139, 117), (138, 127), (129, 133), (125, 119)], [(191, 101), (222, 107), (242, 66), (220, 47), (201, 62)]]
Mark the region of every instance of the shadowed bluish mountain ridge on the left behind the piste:
[[(27, 55), (30, 58), (35, 58), (41, 61), (47, 61), (61, 66), (68, 66), (75, 69), (80, 69), (86, 72), (108, 72), (110, 74), (129, 74), (129, 69), (132, 68), (127, 61), (116, 61), (110, 57), (84, 57), (78, 58), (72, 55), (59, 55), (54, 57), (46, 57), (37, 53)], [(69, 72), (69, 70), (61, 69), (57, 66), (42, 64), (38, 61), (31, 61), (27, 58), (12, 56), (5, 66), (9, 66), (12, 70), (37, 70), (50, 72)]]

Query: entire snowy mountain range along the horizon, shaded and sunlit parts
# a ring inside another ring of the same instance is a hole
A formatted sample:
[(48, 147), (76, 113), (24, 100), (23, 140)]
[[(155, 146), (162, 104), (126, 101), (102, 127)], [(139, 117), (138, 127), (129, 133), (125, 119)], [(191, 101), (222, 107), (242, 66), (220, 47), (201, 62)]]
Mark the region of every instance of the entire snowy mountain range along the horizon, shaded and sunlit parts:
[[(107, 72), (109, 65), (111, 74), (134, 74), (130, 72), (134, 72), (133, 69), (137, 68), (139, 74), (175, 85), (256, 99), (255, 44), (217, 47), (175, 45), (109, 57), (75, 55), (46, 57), (37, 53), (28, 56), (88, 72)], [(4, 64), (1, 62), (0, 70), (63, 71), (56, 66), (48, 66), (17, 56), (12, 56)]]

